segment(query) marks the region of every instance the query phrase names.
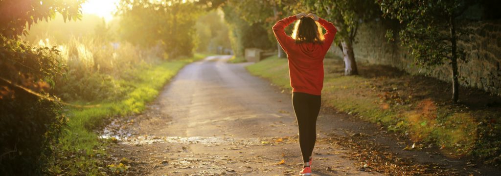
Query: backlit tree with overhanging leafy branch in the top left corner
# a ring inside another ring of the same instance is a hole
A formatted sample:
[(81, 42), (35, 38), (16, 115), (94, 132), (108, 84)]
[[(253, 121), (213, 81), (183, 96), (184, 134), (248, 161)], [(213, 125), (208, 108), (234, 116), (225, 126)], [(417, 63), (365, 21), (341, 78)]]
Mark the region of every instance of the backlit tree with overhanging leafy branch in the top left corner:
[[(61, 64), (55, 59), (59, 51), (48, 47), (33, 48), (18, 37), (26, 35), (33, 24), (53, 19), (56, 13), (60, 13), (64, 21), (80, 19), (84, 1), (0, 0), (0, 78), (3, 80), (0, 86), (37, 88), (45, 82), (53, 82), (54, 76), (61, 71)], [(6, 92), (10, 91), (0, 91), (0, 99)]]

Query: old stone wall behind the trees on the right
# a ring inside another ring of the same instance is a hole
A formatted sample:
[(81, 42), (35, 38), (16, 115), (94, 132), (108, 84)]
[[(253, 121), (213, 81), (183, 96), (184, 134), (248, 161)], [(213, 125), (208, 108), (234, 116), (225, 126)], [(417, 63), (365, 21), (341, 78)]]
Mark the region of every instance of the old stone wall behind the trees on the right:
[[(448, 62), (435, 68), (414, 65), (406, 48), (398, 42), (388, 42), (385, 34), (389, 26), (392, 26), (390, 22), (381, 20), (361, 26), (354, 45), (357, 62), (389, 65), (410, 74), (425, 74), (451, 82)], [(466, 27), (472, 29), (473, 34), (469, 36), (470, 43), (459, 43), (466, 48), (468, 60), (459, 61), (460, 84), (501, 95), (501, 20), (472, 22)]]

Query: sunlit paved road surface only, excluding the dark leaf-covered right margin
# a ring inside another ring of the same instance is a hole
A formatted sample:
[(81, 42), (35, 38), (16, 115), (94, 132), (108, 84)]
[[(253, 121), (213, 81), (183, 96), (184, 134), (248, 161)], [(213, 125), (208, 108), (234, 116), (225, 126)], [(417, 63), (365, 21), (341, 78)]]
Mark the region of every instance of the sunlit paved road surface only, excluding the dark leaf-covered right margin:
[[(229, 58), (207, 57), (180, 70), (135, 118), (119, 155), (141, 161), (141, 175), (297, 175), (302, 162), (290, 94)], [(315, 176), (379, 175), (359, 171), (346, 151), (322, 140), (322, 127)]]

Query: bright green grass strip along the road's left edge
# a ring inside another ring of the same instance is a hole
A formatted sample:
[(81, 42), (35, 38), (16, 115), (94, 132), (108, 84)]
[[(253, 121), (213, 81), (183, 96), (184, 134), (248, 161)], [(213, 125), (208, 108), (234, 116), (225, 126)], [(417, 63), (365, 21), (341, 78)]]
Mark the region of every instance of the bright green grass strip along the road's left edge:
[[(139, 113), (146, 103), (155, 99), (161, 88), (186, 64), (204, 58), (195, 54), (192, 58), (162, 61), (139, 66), (131, 70), (130, 79), (114, 80), (130, 87), (126, 96), (116, 101), (97, 102), (91, 108), (69, 108), (66, 133), (55, 146), (56, 156), (52, 159), (49, 173), (54, 175), (107, 175), (107, 141), (101, 140), (95, 132), (112, 116)], [(77, 104), (85, 104), (78, 102)], [(94, 103), (93, 103), (94, 104)]]

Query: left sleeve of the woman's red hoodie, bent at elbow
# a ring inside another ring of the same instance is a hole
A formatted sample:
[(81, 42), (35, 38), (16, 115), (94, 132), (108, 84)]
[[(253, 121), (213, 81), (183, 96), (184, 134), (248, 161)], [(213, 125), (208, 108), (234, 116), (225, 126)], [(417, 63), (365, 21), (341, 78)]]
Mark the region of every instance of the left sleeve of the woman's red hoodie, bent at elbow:
[(297, 19), (298, 18), (296, 17), (296, 15), (292, 15), (284, 19), (281, 19), (280, 21), (275, 23), (275, 25), (273, 25), (273, 33), (275, 34), (275, 37), (279, 41), (280, 46), (282, 46), (282, 48), (286, 52), (288, 52), (288, 50), (292, 47), (295, 41), (291, 36), (285, 33), (284, 29)]

